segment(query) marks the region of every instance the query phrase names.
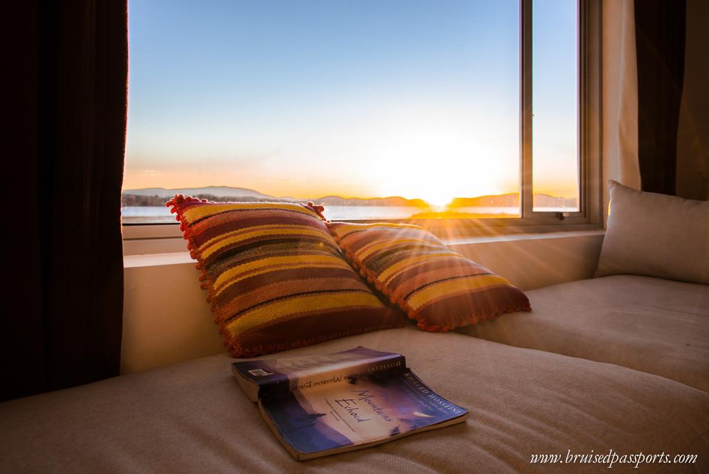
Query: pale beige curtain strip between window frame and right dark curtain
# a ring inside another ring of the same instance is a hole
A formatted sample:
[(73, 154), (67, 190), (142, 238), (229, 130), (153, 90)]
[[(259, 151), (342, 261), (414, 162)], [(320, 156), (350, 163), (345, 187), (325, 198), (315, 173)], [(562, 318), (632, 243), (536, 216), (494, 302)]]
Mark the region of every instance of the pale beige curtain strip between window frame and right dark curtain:
[(640, 189), (633, 0), (603, 1), (603, 209), (608, 180)]

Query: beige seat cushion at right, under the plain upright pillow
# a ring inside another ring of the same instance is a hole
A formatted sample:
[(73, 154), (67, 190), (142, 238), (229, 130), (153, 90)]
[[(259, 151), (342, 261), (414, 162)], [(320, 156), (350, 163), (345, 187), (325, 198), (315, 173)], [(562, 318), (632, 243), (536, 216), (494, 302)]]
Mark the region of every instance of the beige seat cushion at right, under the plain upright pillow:
[(527, 291), (531, 313), (469, 336), (661, 375), (709, 392), (709, 286), (610, 275)]

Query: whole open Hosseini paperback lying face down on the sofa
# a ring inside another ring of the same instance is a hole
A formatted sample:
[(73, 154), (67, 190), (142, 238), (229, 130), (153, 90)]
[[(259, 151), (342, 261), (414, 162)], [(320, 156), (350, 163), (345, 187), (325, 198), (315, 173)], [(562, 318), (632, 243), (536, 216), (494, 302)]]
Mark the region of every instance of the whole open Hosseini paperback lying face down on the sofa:
[(232, 371), (298, 461), (375, 446), (468, 416), (425, 385), (397, 353), (357, 347), (239, 361)]

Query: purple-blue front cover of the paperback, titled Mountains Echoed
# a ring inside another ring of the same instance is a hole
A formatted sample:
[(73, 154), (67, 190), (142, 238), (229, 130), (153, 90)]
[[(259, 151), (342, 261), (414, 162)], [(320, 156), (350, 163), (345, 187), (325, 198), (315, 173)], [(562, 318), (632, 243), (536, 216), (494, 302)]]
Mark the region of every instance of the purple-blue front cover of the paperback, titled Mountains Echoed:
[(409, 370), (275, 395), (259, 403), (272, 429), (303, 459), (384, 443), (463, 421), (467, 415)]

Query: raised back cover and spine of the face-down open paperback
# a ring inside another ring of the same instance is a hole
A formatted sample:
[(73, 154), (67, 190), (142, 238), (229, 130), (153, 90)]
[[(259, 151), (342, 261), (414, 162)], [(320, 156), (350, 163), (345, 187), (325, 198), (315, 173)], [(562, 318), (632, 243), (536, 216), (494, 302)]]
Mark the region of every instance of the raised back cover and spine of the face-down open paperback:
[(318, 387), (383, 369), (406, 368), (406, 358), (356, 347), (330, 354), (233, 362), (236, 380), (252, 402), (259, 397)]

